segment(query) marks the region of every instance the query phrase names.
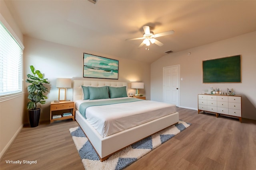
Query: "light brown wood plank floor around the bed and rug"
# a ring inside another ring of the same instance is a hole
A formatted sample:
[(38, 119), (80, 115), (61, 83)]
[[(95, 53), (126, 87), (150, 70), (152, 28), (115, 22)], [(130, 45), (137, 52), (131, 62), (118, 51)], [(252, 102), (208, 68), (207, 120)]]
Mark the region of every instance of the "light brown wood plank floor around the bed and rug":
[[(180, 119), (192, 123), (125, 170), (255, 170), (256, 121), (197, 114), (177, 108)], [(83, 170), (70, 136), (75, 121), (24, 127), (0, 162), (1, 170)], [(6, 164), (6, 160), (36, 160), (36, 164)]]

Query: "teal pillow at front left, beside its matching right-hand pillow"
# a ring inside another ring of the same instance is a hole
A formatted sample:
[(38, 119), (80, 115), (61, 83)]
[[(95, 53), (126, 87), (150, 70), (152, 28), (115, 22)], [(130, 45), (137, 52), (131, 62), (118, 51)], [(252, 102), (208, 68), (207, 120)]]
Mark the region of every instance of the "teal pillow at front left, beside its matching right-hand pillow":
[(103, 86), (103, 87), (88, 86), (88, 89), (89, 89), (90, 100), (108, 99), (109, 98), (107, 86)]

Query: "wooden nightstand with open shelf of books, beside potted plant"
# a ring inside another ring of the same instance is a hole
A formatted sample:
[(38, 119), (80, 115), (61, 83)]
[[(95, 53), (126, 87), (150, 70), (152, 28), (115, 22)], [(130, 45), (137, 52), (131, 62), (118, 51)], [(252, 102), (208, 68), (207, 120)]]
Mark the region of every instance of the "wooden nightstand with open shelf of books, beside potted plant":
[[(50, 108), (50, 123), (56, 120), (73, 119), (75, 120), (75, 102), (63, 101), (63, 102), (51, 102)], [(71, 113), (71, 116), (63, 116), (63, 113)], [(60, 118), (53, 119), (53, 115), (61, 115)]]

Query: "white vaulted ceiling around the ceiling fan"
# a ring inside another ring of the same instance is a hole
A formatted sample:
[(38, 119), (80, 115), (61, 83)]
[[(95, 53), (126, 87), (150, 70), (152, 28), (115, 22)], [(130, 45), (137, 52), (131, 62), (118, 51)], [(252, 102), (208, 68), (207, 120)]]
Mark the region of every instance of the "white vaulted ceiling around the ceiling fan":
[[(1, 0), (2, 1), (2, 0)], [(84, 49), (103, 57), (116, 56), (152, 63), (166, 51), (183, 51), (256, 31), (256, 1), (197, 0), (5, 0), (26, 36)], [(154, 33), (162, 47), (149, 50), (142, 26)], [(26, 47), (25, 47), (26, 48)]]

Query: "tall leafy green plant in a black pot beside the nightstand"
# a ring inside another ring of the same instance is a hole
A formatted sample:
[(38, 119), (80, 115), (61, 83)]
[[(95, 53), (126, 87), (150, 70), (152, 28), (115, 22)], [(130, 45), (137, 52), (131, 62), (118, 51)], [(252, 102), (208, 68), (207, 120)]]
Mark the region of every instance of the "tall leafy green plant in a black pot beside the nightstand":
[(47, 96), (44, 96), (43, 93), (48, 92), (48, 88), (45, 87), (44, 84), (49, 84), (49, 82), (39, 70), (35, 70), (34, 66), (30, 66), (30, 70), (33, 75), (27, 74), (28, 79), (26, 79), (26, 82), (31, 83), (28, 86), (28, 99), (30, 101), (27, 104), (27, 109), (30, 126), (37, 127), (41, 111), (41, 109), (37, 107), (37, 104), (45, 104)]

